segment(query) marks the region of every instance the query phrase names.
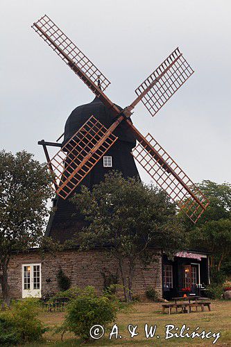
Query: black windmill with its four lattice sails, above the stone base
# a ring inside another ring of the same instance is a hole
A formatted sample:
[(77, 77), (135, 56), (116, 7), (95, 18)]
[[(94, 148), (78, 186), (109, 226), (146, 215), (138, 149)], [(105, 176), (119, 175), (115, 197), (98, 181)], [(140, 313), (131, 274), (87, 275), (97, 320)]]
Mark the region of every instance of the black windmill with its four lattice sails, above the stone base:
[[(95, 94), (91, 103), (71, 112), (62, 143), (39, 142), (53, 172), (56, 192), (56, 210), (47, 233), (64, 241), (80, 230), (85, 222), (78, 214), (72, 217), (74, 206), (70, 196), (80, 192), (81, 185), (91, 189), (110, 169), (121, 171), (125, 177), (139, 176), (134, 158), (196, 223), (209, 201), (154, 137), (149, 133), (144, 137), (130, 120), (139, 101), (154, 116), (194, 73), (180, 50), (175, 49), (139, 85), (135, 101), (122, 109), (104, 93), (110, 84), (108, 78), (49, 17), (44, 15), (32, 27)], [(46, 146), (57, 146), (60, 150), (50, 159)]]

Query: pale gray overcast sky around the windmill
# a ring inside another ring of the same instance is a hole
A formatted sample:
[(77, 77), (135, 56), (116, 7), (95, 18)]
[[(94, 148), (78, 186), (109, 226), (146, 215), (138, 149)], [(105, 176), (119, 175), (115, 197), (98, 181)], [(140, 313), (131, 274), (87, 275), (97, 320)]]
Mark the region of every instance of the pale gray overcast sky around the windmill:
[(229, 0), (1, 0), (0, 8), (0, 149), (45, 161), (37, 140), (55, 141), (71, 110), (93, 99), (31, 28), (46, 14), (110, 79), (106, 94), (122, 107), (179, 46), (195, 74), (155, 117), (140, 103), (132, 121), (194, 182), (231, 181)]

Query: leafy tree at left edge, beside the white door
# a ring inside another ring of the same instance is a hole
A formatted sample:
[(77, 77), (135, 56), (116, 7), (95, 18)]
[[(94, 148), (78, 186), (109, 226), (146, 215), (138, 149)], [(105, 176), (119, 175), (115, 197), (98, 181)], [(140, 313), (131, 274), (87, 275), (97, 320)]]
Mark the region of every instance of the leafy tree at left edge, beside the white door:
[(43, 237), (51, 196), (44, 164), (22, 151), (0, 151), (0, 283), (9, 305), (8, 264), (13, 252), (37, 246)]

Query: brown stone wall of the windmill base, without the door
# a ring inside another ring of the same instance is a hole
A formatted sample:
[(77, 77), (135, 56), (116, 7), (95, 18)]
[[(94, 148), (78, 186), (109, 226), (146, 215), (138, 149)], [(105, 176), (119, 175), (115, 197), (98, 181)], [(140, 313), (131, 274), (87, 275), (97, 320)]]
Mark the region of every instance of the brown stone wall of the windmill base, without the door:
[[(133, 284), (134, 295), (145, 298), (148, 287), (154, 287), (162, 297), (162, 257), (157, 255), (157, 261), (146, 266), (137, 265)], [(9, 264), (8, 282), (10, 296), (22, 298), (22, 264), (42, 263), (42, 295), (58, 291), (56, 280), (60, 268), (71, 278), (71, 287), (94, 286), (97, 291), (103, 289), (103, 275), (116, 274), (118, 271), (119, 283), (121, 283), (117, 260), (110, 258), (103, 251), (63, 251), (56, 256), (45, 255), (41, 259), (36, 251), (26, 254), (14, 255)]]

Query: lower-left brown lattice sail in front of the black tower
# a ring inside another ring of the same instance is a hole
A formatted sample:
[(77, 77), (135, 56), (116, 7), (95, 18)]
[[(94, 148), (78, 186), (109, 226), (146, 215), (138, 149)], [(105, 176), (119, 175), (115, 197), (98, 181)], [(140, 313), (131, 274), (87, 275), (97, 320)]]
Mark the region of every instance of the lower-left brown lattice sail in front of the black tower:
[(48, 163), (58, 187), (55, 192), (66, 199), (117, 139), (99, 120), (90, 117)]

